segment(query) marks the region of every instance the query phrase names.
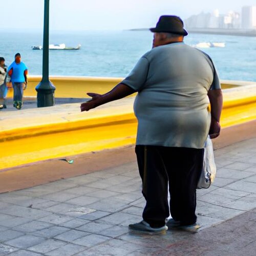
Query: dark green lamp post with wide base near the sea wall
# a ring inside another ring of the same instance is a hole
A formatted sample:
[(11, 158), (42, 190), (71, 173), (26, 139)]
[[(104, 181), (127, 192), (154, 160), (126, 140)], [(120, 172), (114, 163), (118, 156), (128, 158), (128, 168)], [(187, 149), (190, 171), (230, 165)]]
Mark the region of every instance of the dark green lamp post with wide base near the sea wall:
[(55, 86), (49, 80), (49, 3), (45, 0), (44, 44), (42, 47), (42, 80), (37, 84), (37, 108), (53, 106)]

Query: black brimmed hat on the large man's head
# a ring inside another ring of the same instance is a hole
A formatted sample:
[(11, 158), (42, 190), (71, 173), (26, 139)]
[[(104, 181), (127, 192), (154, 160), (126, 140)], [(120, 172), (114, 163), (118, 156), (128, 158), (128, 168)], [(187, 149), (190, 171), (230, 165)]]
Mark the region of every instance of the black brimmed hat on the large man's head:
[(165, 32), (178, 35), (187, 35), (187, 31), (183, 28), (183, 21), (178, 16), (163, 15), (160, 16), (157, 26), (150, 29), (151, 32)]

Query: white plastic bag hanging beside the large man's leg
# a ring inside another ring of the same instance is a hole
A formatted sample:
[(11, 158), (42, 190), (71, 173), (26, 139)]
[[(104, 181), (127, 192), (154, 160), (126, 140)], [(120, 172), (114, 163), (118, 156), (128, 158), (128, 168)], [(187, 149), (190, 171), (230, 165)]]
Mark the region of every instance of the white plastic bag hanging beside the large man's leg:
[(214, 182), (215, 176), (216, 164), (214, 160), (214, 147), (212, 145), (210, 136), (208, 135), (204, 145), (203, 167), (201, 170), (197, 188), (208, 188), (210, 184)]

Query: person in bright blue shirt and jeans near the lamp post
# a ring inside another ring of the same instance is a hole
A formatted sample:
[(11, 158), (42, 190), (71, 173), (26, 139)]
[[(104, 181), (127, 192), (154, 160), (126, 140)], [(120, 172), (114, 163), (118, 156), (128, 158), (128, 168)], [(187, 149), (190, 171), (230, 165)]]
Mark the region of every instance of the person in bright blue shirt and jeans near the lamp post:
[(28, 82), (28, 68), (25, 63), (21, 61), (21, 56), (19, 53), (15, 54), (15, 60), (11, 63), (7, 72), (11, 77), (13, 86), (13, 106), (20, 110), (23, 105), (23, 84), (25, 83), (26, 89)]

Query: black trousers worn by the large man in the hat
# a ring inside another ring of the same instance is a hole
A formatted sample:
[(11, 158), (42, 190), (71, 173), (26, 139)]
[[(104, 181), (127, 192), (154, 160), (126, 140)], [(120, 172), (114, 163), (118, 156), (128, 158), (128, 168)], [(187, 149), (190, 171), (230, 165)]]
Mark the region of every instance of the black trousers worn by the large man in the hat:
[(181, 225), (196, 223), (196, 188), (203, 148), (137, 145), (135, 152), (146, 200), (143, 220), (152, 227), (161, 227), (170, 211)]

